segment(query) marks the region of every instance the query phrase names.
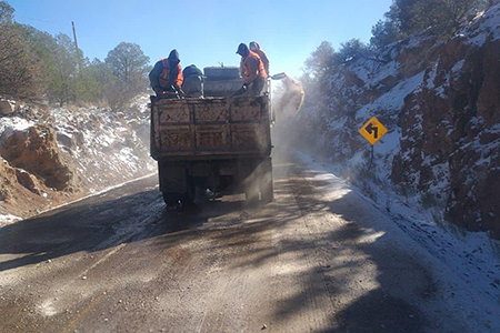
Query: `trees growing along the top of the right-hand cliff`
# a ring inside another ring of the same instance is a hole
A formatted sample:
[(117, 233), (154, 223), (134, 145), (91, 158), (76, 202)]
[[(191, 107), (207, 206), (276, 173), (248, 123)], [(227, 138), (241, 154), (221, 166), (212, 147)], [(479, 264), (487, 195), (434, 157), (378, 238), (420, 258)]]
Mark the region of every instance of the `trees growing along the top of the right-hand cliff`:
[[(429, 30), (443, 39), (451, 37), (460, 23), (497, 3), (498, 0), (394, 0), (383, 19), (371, 29), (369, 43), (351, 39), (336, 51), (323, 41), (304, 62), (303, 84), (311, 89), (328, 87), (324, 74), (358, 57), (370, 58), (374, 49), (400, 41), (412, 33)], [(383, 61), (383, 59), (379, 59)]]

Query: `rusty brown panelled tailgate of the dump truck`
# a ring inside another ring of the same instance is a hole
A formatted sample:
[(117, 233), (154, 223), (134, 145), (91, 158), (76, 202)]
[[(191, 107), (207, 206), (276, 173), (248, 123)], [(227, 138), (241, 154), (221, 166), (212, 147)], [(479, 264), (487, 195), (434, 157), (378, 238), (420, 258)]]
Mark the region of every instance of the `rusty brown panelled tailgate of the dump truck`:
[(151, 155), (197, 160), (268, 157), (268, 97), (151, 98)]

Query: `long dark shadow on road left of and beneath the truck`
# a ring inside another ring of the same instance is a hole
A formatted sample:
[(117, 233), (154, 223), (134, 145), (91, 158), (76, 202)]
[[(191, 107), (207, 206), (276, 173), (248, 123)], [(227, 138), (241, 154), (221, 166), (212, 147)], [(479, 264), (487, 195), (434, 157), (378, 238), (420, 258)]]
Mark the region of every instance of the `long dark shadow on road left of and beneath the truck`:
[[(208, 219), (248, 206), (213, 201), (187, 209), (167, 209), (157, 178), (132, 182), (110, 192), (19, 221), (0, 229), (0, 272), (37, 264), (77, 252), (96, 252), (121, 243), (170, 235), (203, 225)], [(167, 241), (167, 240), (163, 240)]]

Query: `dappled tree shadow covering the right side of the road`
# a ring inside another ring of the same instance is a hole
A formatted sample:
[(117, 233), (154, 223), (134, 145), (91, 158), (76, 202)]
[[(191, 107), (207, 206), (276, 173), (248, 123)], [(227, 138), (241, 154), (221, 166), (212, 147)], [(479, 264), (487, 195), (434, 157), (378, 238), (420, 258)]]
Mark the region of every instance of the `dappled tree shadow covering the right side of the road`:
[[(347, 306), (329, 315), (330, 329), (311, 332), (440, 331), (441, 324), (431, 321), (426, 311), (437, 293), (432, 274), (413, 256), (411, 249), (407, 251), (393, 242), (396, 236), (390, 234), (393, 229), (372, 223), (371, 213), (363, 211), (364, 205), (359, 205), (362, 200), (354, 192), (323, 201), (318, 199), (318, 193), (331, 191), (330, 181), (314, 180), (314, 172), (302, 170), (298, 164), (277, 165), (277, 174), (280, 174), (280, 168), (286, 169), (287, 175), (276, 178), (276, 195), (293, 193), (293, 200), (278, 200), (272, 203), (273, 210), (260, 212), (259, 221), (214, 235), (220, 239), (216, 244), (238, 252), (258, 241), (266, 231), (274, 230), (279, 234), (306, 221), (309, 234), (284, 239), (279, 244), (279, 252), (270, 246), (253, 246), (251, 253), (246, 253), (247, 260), (232, 266), (261, 266), (283, 253), (310, 256), (314, 262), (307, 271), (290, 273), (293, 279), (302, 279), (301, 285), (307, 287), (278, 301), (274, 321), (283, 323), (300, 317), (308, 311), (317, 311), (321, 302), (331, 304), (340, 299), (349, 301)], [(321, 218), (324, 214), (342, 222), (334, 229), (323, 228), (321, 224), (329, 222)], [(380, 216), (383, 214), (379, 213)], [(202, 251), (216, 246), (211, 244)], [(376, 284), (363, 272), (367, 265), (371, 265)], [(351, 290), (353, 285), (357, 286)], [(448, 324), (450, 326), (461, 327), (460, 323)]]

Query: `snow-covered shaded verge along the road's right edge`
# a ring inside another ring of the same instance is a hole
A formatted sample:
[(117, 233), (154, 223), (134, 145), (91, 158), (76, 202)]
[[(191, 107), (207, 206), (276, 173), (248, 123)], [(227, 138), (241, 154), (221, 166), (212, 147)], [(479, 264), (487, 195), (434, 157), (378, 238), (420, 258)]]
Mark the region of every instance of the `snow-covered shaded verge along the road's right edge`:
[(418, 205), (408, 205), (390, 192), (378, 193), (388, 196), (386, 202), (390, 202), (389, 205), (379, 204), (337, 176), (334, 165), (319, 163), (302, 152), (296, 152), (321, 180), (330, 182), (332, 192), (338, 192), (339, 183), (342, 183), (341, 190), (362, 198), (367, 210), (376, 208), (378, 215), (383, 218), (373, 222), (393, 233), (409, 246), (410, 252), (423, 255), (432, 264), (434, 279), (443, 286), (446, 300), (464, 315), (471, 332), (483, 332), (486, 327), (492, 330), (488, 332), (500, 332), (499, 241), (489, 239), (486, 233), (459, 231), (452, 225), (437, 223), (431, 212), (411, 209)]

